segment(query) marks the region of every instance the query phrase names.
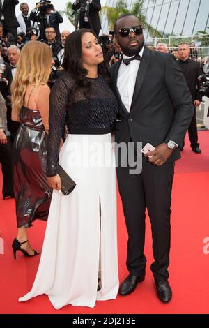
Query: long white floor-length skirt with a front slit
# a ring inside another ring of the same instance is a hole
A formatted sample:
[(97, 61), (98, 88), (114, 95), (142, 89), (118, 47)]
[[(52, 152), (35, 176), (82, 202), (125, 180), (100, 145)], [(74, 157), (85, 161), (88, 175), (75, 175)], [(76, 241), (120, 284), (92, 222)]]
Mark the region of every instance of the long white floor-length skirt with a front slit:
[(67, 304), (93, 307), (118, 293), (111, 134), (68, 135), (59, 164), (77, 186), (67, 196), (54, 190), (33, 288), (19, 301), (46, 294), (56, 309)]

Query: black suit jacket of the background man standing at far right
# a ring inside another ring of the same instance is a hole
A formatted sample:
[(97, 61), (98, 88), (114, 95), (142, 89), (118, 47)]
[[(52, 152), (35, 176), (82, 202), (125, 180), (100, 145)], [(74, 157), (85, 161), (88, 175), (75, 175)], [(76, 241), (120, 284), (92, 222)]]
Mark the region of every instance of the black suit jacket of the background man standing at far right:
[[(181, 68), (182, 64), (180, 64), (180, 59), (177, 61), (178, 66)], [(198, 77), (201, 75), (201, 66), (196, 61), (189, 59), (187, 64), (187, 70), (185, 70), (185, 80), (187, 81), (187, 86), (189, 91), (192, 94), (192, 100), (199, 100), (202, 101), (201, 92), (199, 89), (201, 88), (201, 82), (199, 82)]]

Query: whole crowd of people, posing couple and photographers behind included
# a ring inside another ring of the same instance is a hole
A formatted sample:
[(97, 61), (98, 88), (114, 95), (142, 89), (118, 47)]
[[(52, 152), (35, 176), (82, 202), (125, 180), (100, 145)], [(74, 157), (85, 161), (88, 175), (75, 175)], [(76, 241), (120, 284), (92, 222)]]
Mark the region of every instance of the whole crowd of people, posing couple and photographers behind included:
[[(18, 1), (7, 2), (15, 10)], [(22, 14), (13, 17), (13, 24), (7, 10), (1, 11), (0, 161), (3, 198), (15, 197), (14, 258), (17, 251), (39, 254), (27, 232), (36, 219), (47, 221), (36, 279), (20, 301), (47, 294), (54, 308), (93, 307), (97, 300), (115, 299), (118, 290), (121, 295), (133, 292), (146, 275), (147, 208), (155, 259), (151, 271), (157, 297), (167, 303), (172, 297), (174, 164), (188, 129), (192, 151), (201, 153), (195, 117), (202, 97), (201, 68), (189, 59), (186, 43), (179, 45), (178, 56), (162, 44), (157, 51), (146, 47), (141, 22), (131, 14), (118, 17), (113, 42), (103, 37), (100, 45), (100, 1), (75, 1), (73, 8), (83, 4), (80, 29), (72, 33), (59, 32), (63, 19), (54, 6), (45, 8), (40, 20), (42, 3), (30, 15), (21, 3)], [(90, 18), (94, 11), (95, 20)], [(124, 156), (115, 161), (113, 133), (116, 144), (126, 149), (132, 144), (134, 159), (138, 143), (153, 145), (138, 174), (130, 174), (133, 167), (129, 161), (124, 165)], [(105, 152), (97, 154), (98, 166), (86, 165), (95, 142)], [(106, 158), (114, 165), (107, 167)], [(59, 165), (76, 182), (69, 195), (61, 193)], [(129, 275), (120, 288), (116, 173), (128, 232)]]

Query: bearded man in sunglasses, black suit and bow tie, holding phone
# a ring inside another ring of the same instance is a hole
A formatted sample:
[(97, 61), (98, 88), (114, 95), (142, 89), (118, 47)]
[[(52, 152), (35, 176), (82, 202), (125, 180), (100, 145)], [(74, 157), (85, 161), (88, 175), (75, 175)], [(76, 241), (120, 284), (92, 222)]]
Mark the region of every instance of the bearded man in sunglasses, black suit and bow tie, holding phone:
[[(115, 138), (120, 144), (150, 143), (154, 151), (142, 160), (141, 174), (119, 163), (118, 186), (128, 232), (127, 269), (119, 293), (128, 295), (144, 281), (145, 209), (152, 225), (151, 270), (160, 301), (171, 300), (169, 278), (171, 190), (178, 147), (192, 119), (192, 98), (183, 73), (171, 54), (144, 47), (141, 23), (126, 14), (115, 24), (123, 60), (110, 68), (111, 81), (119, 103)], [(136, 147), (135, 147), (136, 150)], [(128, 154), (130, 156), (130, 153)], [(135, 156), (140, 156), (135, 152)], [(152, 156), (148, 158), (148, 156)]]

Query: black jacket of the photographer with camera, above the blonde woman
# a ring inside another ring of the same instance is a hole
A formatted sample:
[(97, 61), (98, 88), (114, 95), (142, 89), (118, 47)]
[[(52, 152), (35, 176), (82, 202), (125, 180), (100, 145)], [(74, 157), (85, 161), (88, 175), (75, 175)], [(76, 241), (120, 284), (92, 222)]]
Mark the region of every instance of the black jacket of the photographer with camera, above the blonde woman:
[[(31, 11), (30, 13), (30, 19), (33, 22), (39, 22), (39, 17), (36, 15), (36, 13), (33, 13)], [(46, 27), (54, 27), (56, 31), (56, 38), (60, 39), (61, 38), (61, 33), (59, 31), (59, 24), (63, 23), (63, 17), (61, 17), (60, 13), (56, 11), (56, 13), (51, 13), (49, 16), (49, 24), (47, 22), (47, 18), (44, 17), (42, 19), (42, 22), (40, 22), (40, 39), (46, 40), (45, 36), (45, 29)]]

